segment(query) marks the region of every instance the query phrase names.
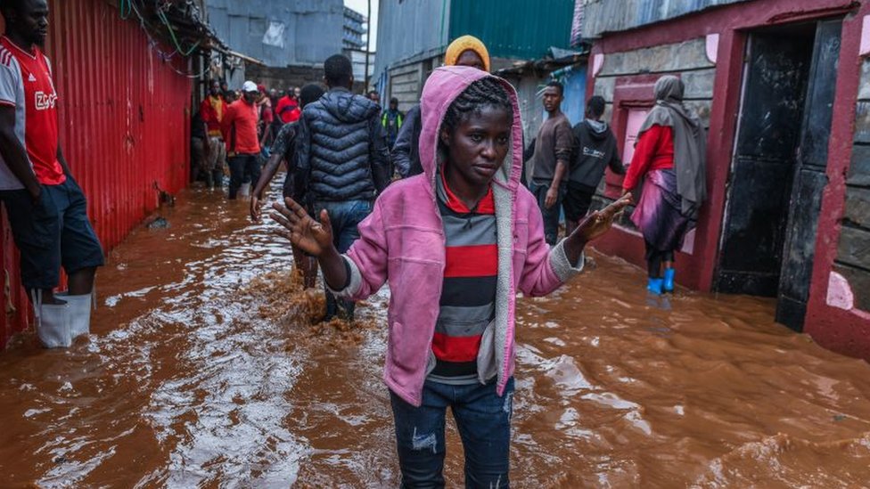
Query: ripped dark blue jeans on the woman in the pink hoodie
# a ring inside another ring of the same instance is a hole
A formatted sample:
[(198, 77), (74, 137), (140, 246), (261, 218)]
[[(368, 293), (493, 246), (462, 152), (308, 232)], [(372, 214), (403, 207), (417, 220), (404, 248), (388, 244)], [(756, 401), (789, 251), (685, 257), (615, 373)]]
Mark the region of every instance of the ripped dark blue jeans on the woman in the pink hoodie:
[(426, 380), (423, 404), (390, 392), (403, 488), (444, 487), (444, 426), (453, 411), (465, 452), (465, 487), (509, 487), (513, 378), (505, 395), (495, 379), (486, 385), (450, 386)]

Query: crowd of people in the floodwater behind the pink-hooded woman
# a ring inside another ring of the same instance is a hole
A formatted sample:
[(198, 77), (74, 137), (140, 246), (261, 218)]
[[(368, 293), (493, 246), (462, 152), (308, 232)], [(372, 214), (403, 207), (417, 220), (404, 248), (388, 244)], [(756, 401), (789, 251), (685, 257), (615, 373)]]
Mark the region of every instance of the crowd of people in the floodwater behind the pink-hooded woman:
[[(463, 36), (447, 47), (444, 64), (488, 72), (489, 55), (479, 39)], [(226, 83), (210, 81), (193, 122), (193, 180), (219, 188), (226, 172), (230, 200), (249, 184), (250, 216), (259, 221), (267, 185), (283, 166), (283, 196), (307, 202), (312, 212), (330, 210), (336, 246), (344, 252), (358, 238), (357, 226), (371, 212), (374, 198), (391, 181), (423, 174), (423, 118), (420, 105), (403, 112), (395, 97), (382, 108), (376, 90), (352, 96), (353, 76), (342, 55), (327, 60), (324, 71), (325, 90), (312, 83), (279, 93), (247, 81), (234, 92)], [(631, 219), (644, 234), (647, 289), (655, 295), (674, 290), (675, 252), (694, 228), (706, 196), (702, 128), (682, 106), (682, 90), (677, 77), (662, 77), (655, 87), (657, 104), (638, 134), (632, 161), (625, 164), (603, 120), (604, 99), (589, 98), (583, 120), (572, 126), (562, 112), (564, 87), (557, 80), (542, 89), (546, 119), (537, 134), (521, 137), (529, 141), (521, 151), (521, 182), (538, 202), (550, 246), (557, 243), (562, 223), (563, 235), (569, 236), (587, 217), (605, 168), (624, 175), (623, 194), (644, 183)], [(688, 161), (682, 172), (674, 170), (675, 151)], [(304, 283), (315, 286), (316, 260), (296, 251)], [(326, 296), (327, 320), (335, 315), (352, 319), (352, 303), (334, 300), (329, 290)]]

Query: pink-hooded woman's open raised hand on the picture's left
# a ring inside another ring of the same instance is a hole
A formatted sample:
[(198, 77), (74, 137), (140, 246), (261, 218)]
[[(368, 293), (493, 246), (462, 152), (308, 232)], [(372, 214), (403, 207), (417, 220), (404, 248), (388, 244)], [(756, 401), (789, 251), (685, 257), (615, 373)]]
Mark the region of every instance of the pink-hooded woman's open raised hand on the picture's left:
[(302, 206), (295, 200), (287, 197), (284, 199), (285, 206), (278, 202), (272, 205), (275, 209), (270, 215), (283, 229), (276, 232), (314, 257), (322, 257), (325, 254), (338, 255), (338, 251), (332, 244), (332, 226), (329, 223), (329, 214), (326, 209), (320, 213), (318, 223)]

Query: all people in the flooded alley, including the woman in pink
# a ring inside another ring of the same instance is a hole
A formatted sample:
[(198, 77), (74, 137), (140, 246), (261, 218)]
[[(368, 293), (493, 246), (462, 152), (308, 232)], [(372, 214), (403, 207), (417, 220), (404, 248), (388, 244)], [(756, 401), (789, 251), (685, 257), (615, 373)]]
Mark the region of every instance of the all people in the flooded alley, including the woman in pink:
[[(39, 48), (48, 6), (0, 11), (0, 199), (37, 334), (45, 346), (70, 346), (88, 331), (103, 249), (58, 143), (57, 95)], [(389, 284), (384, 380), (403, 487), (445, 485), (448, 407), (466, 487), (507, 487), (517, 294), (544, 296), (580, 273), (587, 243), (641, 185), (632, 220), (646, 240), (647, 287), (672, 290), (675, 251), (706, 197), (705, 134), (682, 104), (683, 83), (662, 77), (626, 171), (603, 99), (589, 99), (571, 126), (564, 88), (552, 81), (546, 121), (524, 148), (516, 91), (489, 73), (486, 46), (459, 37), (444, 64), (406, 114), (396, 99), (382, 110), (380, 94), (353, 94), (342, 54), (324, 61), (325, 88), (278, 94), (246, 81), (237, 94), (210, 81), (193, 118), (194, 175), (220, 188), (226, 167), (230, 200), (250, 183), (259, 221), (267, 184), (286, 166), (270, 216), (305, 284), (321, 271), (325, 319), (352, 320), (355, 300)], [(623, 196), (589, 212), (606, 167), (626, 173)], [(61, 267), (69, 289), (55, 294)]]

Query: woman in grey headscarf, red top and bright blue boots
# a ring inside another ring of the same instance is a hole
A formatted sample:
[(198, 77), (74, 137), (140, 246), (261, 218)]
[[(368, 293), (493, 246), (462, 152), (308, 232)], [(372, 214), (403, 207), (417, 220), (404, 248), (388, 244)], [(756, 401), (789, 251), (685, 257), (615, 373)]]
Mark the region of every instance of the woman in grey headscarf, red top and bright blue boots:
[[(647, 289), (674, 289), (674, 253), (682, 248), (707, 198), (706, 132), (683, 106), (685, 86), (673, 76), (655, 83), (655, 106), (637, 134), (623, 193), (642, 178), (644, 188), (631, 220), (644, 234)], [(663, 268), (663, 270), (662, 270)]]

